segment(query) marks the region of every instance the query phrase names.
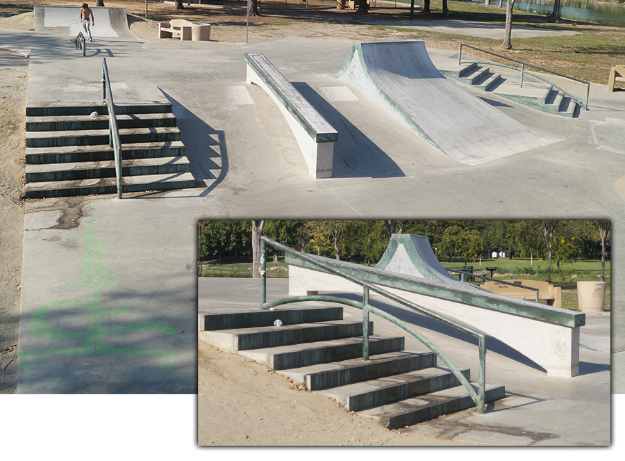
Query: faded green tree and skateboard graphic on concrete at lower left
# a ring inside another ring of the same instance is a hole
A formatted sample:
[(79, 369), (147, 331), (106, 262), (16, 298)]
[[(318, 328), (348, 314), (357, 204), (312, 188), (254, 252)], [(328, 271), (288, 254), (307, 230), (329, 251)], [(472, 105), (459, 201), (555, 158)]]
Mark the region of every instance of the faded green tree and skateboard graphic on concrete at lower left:
[[(71, 282), (71, 285), (89, 286), (89, 301), (56, 299), (40, 305), (28, 322), (28, 328), (35, 336), (49, 339), (85, 339), (84, 346), (72, 348), (56, 348), (44, 350), (19, 350), (19, 367), (24, 370), (33, 368), (33, 355), (51, 354), (145, 354), (161, 355), (160, 366), (165, 370), (174, 368), (174, 355), (179, 352), (170, 350), (148, 350), (132, 348), (116, 348), (106, 346), (104, 338), (110, 334), (120, 334), (128, 332), (160, 332), (169, 336), (170, 341), (174, 341), (176, 330), (172, 325), (165, 322), (144, 322), (133, 325), (118, 327), (103, 327), (103, 316), (122, 316), (131, 311), (131, 306), (127, 302), (115, 300), (113, 303), (122, 307), (104, 307), (101, 305), (101, 291), (111, 289), (122, 289), (110, 280), (110, 276), (116, 275), (106, 266), (104, 255), (108, 254), (103, 247), (99, 236), (95, 232), (94, 217), (81, 239), (87, 243), (85, 257), (76, 270), (81, 271), (81, 275)], [(47, 324), (47, 316), (55, 309), (85, 309), (88, 313), (88, 329), (86, 331), (58, 330)]]

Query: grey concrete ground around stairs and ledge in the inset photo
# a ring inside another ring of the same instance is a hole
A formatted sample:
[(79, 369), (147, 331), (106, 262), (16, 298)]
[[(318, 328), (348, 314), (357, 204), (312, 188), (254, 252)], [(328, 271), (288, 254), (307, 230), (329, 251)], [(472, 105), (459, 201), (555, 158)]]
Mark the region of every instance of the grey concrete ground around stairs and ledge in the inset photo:
[[(322, 293), (320, 293), (322, 294)], [(329, 294), (329, 293), (324, 293)], [(357, 299), (348, 293), (333, 295)], [(267, 300), (288, 296), (288, 280), (267, 280)], [(373, 296), (372, 305), (401, 320), (411, 323), (432, 341), (453, 364), (471, 369), (477, 376), (477, 346), (468, 336), (405, 309), (380, 296)], [(203, 277), (198, 280), (198, 311), (200, 314), (232, 310), (258, 309), (260, 289), (258, 280)], [(320, 306), (309, 302), (297, 305)], [(295, 305), (292, 305), (295, 306)], [(288, 307), (288, 306), (285, 306)], [(362, 320), (362, 311), (343, 307), (346, 320)], [(582, 327), (599, 343), (610, 338), (609, 314), (588, 316)], [(607, 319), (607, 321), (606, 321)], [(401, 328), (373, 316), (375, 334), (392, 336), (404, 334)], [(452, 439), (456, 442), (483, 442), (495, 445), (609, 445), (610, 444), (610, 355), (581, 348), (580, 375), (574, 378), (554, 378), (539, 371), (515, 350), (496, 340), (486, 341), (486, 381), (506, 386), (506, 398), (487, 405), (487, 412), (475, 409), (449, 414), (444, 419), (420, 423), (408, 429), (425, 432), (428, 436)], [(406, 350), (426, 352), (417, 339), (406, 337)], [(475, 378), (474, 378), (475, 379)], [(233, 404), (235, 400), (233, 399)], [(402, 430), (403, 432), (403, 430)]]

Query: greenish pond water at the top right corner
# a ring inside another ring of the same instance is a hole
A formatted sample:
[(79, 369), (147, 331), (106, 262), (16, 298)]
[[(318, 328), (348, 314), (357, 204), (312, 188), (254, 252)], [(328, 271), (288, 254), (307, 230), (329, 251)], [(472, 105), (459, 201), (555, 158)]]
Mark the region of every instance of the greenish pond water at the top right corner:
[[(484, 3), (483, 0), (472, 0), (477, 3)], [(562, 8), (560, 16), (566, 19), (597, 22), (607, 26), (625, 26), (625, 0), (620, 3), (597, 3), (586, 0), (560, 0)], [(517, 2), (515, 8), (522, 11), (529, 10), (537, 13), (547, 13), (553, 11), (553, 0), (531, 0), (529, 3)], [(491, 0), (491, 6), (499, 5), (499, 0)], [(503, 2), (506, 8), (506, 2)]]

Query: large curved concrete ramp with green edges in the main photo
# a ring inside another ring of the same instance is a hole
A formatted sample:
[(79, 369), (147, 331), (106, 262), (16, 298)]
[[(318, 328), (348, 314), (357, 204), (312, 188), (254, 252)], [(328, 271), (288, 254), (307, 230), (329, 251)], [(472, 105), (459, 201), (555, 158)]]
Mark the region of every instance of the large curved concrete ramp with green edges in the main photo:
[(424, 42), (356, 42), (333, 75), (453, 159), (479, 165), (558, 140), (531, 131), (447, 80)]

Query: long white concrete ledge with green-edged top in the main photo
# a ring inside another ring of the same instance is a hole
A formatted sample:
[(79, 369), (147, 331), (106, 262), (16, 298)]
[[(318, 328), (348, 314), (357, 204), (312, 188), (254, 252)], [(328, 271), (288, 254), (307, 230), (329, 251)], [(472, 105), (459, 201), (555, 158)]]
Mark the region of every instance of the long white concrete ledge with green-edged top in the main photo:
[(278, 104), (315, 178), (332, 177), (338, 131), (308, 102), (262, 53), (246, 53), (247, 83), (260, 86)]

